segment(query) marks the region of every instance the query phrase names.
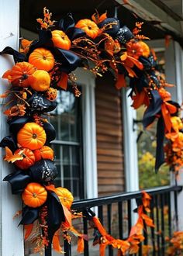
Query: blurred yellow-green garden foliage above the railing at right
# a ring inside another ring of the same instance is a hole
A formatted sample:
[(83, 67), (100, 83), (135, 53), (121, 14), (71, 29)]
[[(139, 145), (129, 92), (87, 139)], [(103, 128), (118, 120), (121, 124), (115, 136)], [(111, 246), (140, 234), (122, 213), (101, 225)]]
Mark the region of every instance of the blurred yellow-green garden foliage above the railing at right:
[[(156, 49), (154, 49), (156, 50)], [(157, 51), (158, 69), (162, 75), (165, 75), (164, 50)], [(145, 107), (141, 106), (136, 110), (137, 119), (137, 148), (138, 148), (138, 168), (140, 189), (147, 189), (161, 185), (170, 184), (170, 175), (168, 167), (163, 164), (156, 174), (154, 171), (156, 155), (156, 130), (157, 121), (155, 121), (147, 130), (143, 130), (143, 113)]]

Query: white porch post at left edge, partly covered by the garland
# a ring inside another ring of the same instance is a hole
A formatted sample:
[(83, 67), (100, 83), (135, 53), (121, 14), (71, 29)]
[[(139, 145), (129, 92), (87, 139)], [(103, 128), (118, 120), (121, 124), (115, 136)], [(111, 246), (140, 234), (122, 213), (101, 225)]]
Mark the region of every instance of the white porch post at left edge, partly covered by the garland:
[[(19, 0), (1, 0), (0, 1), (0, 51), (6, 46), (18, 49), (19, 47)], [(0, 56), (0, 77), (2, 74), (12, 67), (12, 57), (5, 55)], [(8, 87), (7, 83), (0, 78), (0, 93), (4, 92)], [(6, 124), (6, 118), (3, 115), (4, 99), (0, 100), (0, 140), (9, 135), (9, 129)], [(15, 213), (22, 209), (21, 199), (17, 195), (12, 195), (11, 187), (2, 179), (8, 175), (10, 164), (6, 164), (2, 160), (4, 150), (1, 150), (0, 157), (0, 255), (5, 256), (22, 256), (23, 252), (23, 232), (22, 227), (17, 227), (19, 218), (13, 220)]]

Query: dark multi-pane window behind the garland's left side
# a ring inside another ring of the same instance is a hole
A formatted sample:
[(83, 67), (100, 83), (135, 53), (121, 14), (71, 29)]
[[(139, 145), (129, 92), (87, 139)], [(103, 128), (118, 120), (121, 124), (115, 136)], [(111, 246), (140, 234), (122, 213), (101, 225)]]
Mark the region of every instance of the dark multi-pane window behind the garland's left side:
[(52, 143), (58, 175), (54, 184), (64, 186), (83, 198), (83, 168), (81, 147), (81, 99), (70, 91), (58, 91), (57, 109), (50, 116), (57, 137)]

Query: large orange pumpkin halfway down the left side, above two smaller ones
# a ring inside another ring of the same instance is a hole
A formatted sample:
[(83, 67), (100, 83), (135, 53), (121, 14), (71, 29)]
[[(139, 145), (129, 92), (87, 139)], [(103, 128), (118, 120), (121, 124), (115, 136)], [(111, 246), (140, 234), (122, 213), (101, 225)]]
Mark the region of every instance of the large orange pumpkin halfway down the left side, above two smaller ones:
[(26, 123), (17, 134), (17, 142), (22, 147), (36, 150), (45, 144), (47, 135), (37, 123)]

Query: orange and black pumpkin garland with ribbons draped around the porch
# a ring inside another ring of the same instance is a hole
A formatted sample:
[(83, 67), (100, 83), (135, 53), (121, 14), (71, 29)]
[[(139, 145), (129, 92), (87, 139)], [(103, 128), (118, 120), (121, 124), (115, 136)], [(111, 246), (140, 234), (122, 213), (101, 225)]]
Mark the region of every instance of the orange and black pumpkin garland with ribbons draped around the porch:
[[(76, 24), (71, 14), (59, 22), (51, 20), (46, 8), (43, 15), (43, 19), (37, 19), (40, 23), (38, 40), (22, 39), (19, 51), (5, 47), (0, 52), (12, 55), (15, 61), (12, 69), (2, 76), (11, 84), (1, 95), (1, 98), (10, 98), (5, 104), (9, 108), (4, 111), (10, 135), (2, 139), (0, 146), (5, 147), (4, 160), (15, 167), (4, 180), (11, 184), (13, 194), (22, 195), (24, 207), (20, 224), (26, 229), (26, 239), (35, 223), (39, 223), (36, 250), (50, 248), (53, 241), (54, 248), (61, 252), (59, 229), (67, 240), (70, 240), (67, 230), (72, 230), (81, 244), (85, 236), (71, 226), (71, 219), (78, 216), (71, 212), (71, 192), (54, 186), (57, 168), (50, 142), (56, 133), (43, 114), (57, 107), (57, 90), (66, 90), (67, 81), (71, 82), (74, 95), (81, 95), (72, 71), (77, 67), (96, 75), (111, 71), (118, 89), (126, 87), (125, 78), (129, 78), (133, 107), (147, 106), (144, 128), (157, 119), (156, 170), (164, 163), (164, 150), (165, 161), (172, 170), (177, 172), (183, 166), (183, 124), (178, 117), (180, 106), (165, 90), (171, 85), (157, 71), (154, 51), (143, 42), (147, 37), (140, 35), (143, 23), (136, 22), (136, 27), (130, 31), (127, 26), (120, 26), (118, 19), (108, 18), (106, 13), (100, 16), (96, 12), (91, 19), (81, 19)], [(165, 148), (164, 137), (167, 138)], [(143, 216), (143, 208), (138, 207), (138, 211)], [(100, 223), (95, 222), (95, 225), (100, 226)], [(135, 235), (137, 230), (134, 230)], [(101, 235), (107, 237), (105, 230)], [(105, 244), (110, 243), (107, 239)], [(122, 252), (124, 247), (121, 243)]]

